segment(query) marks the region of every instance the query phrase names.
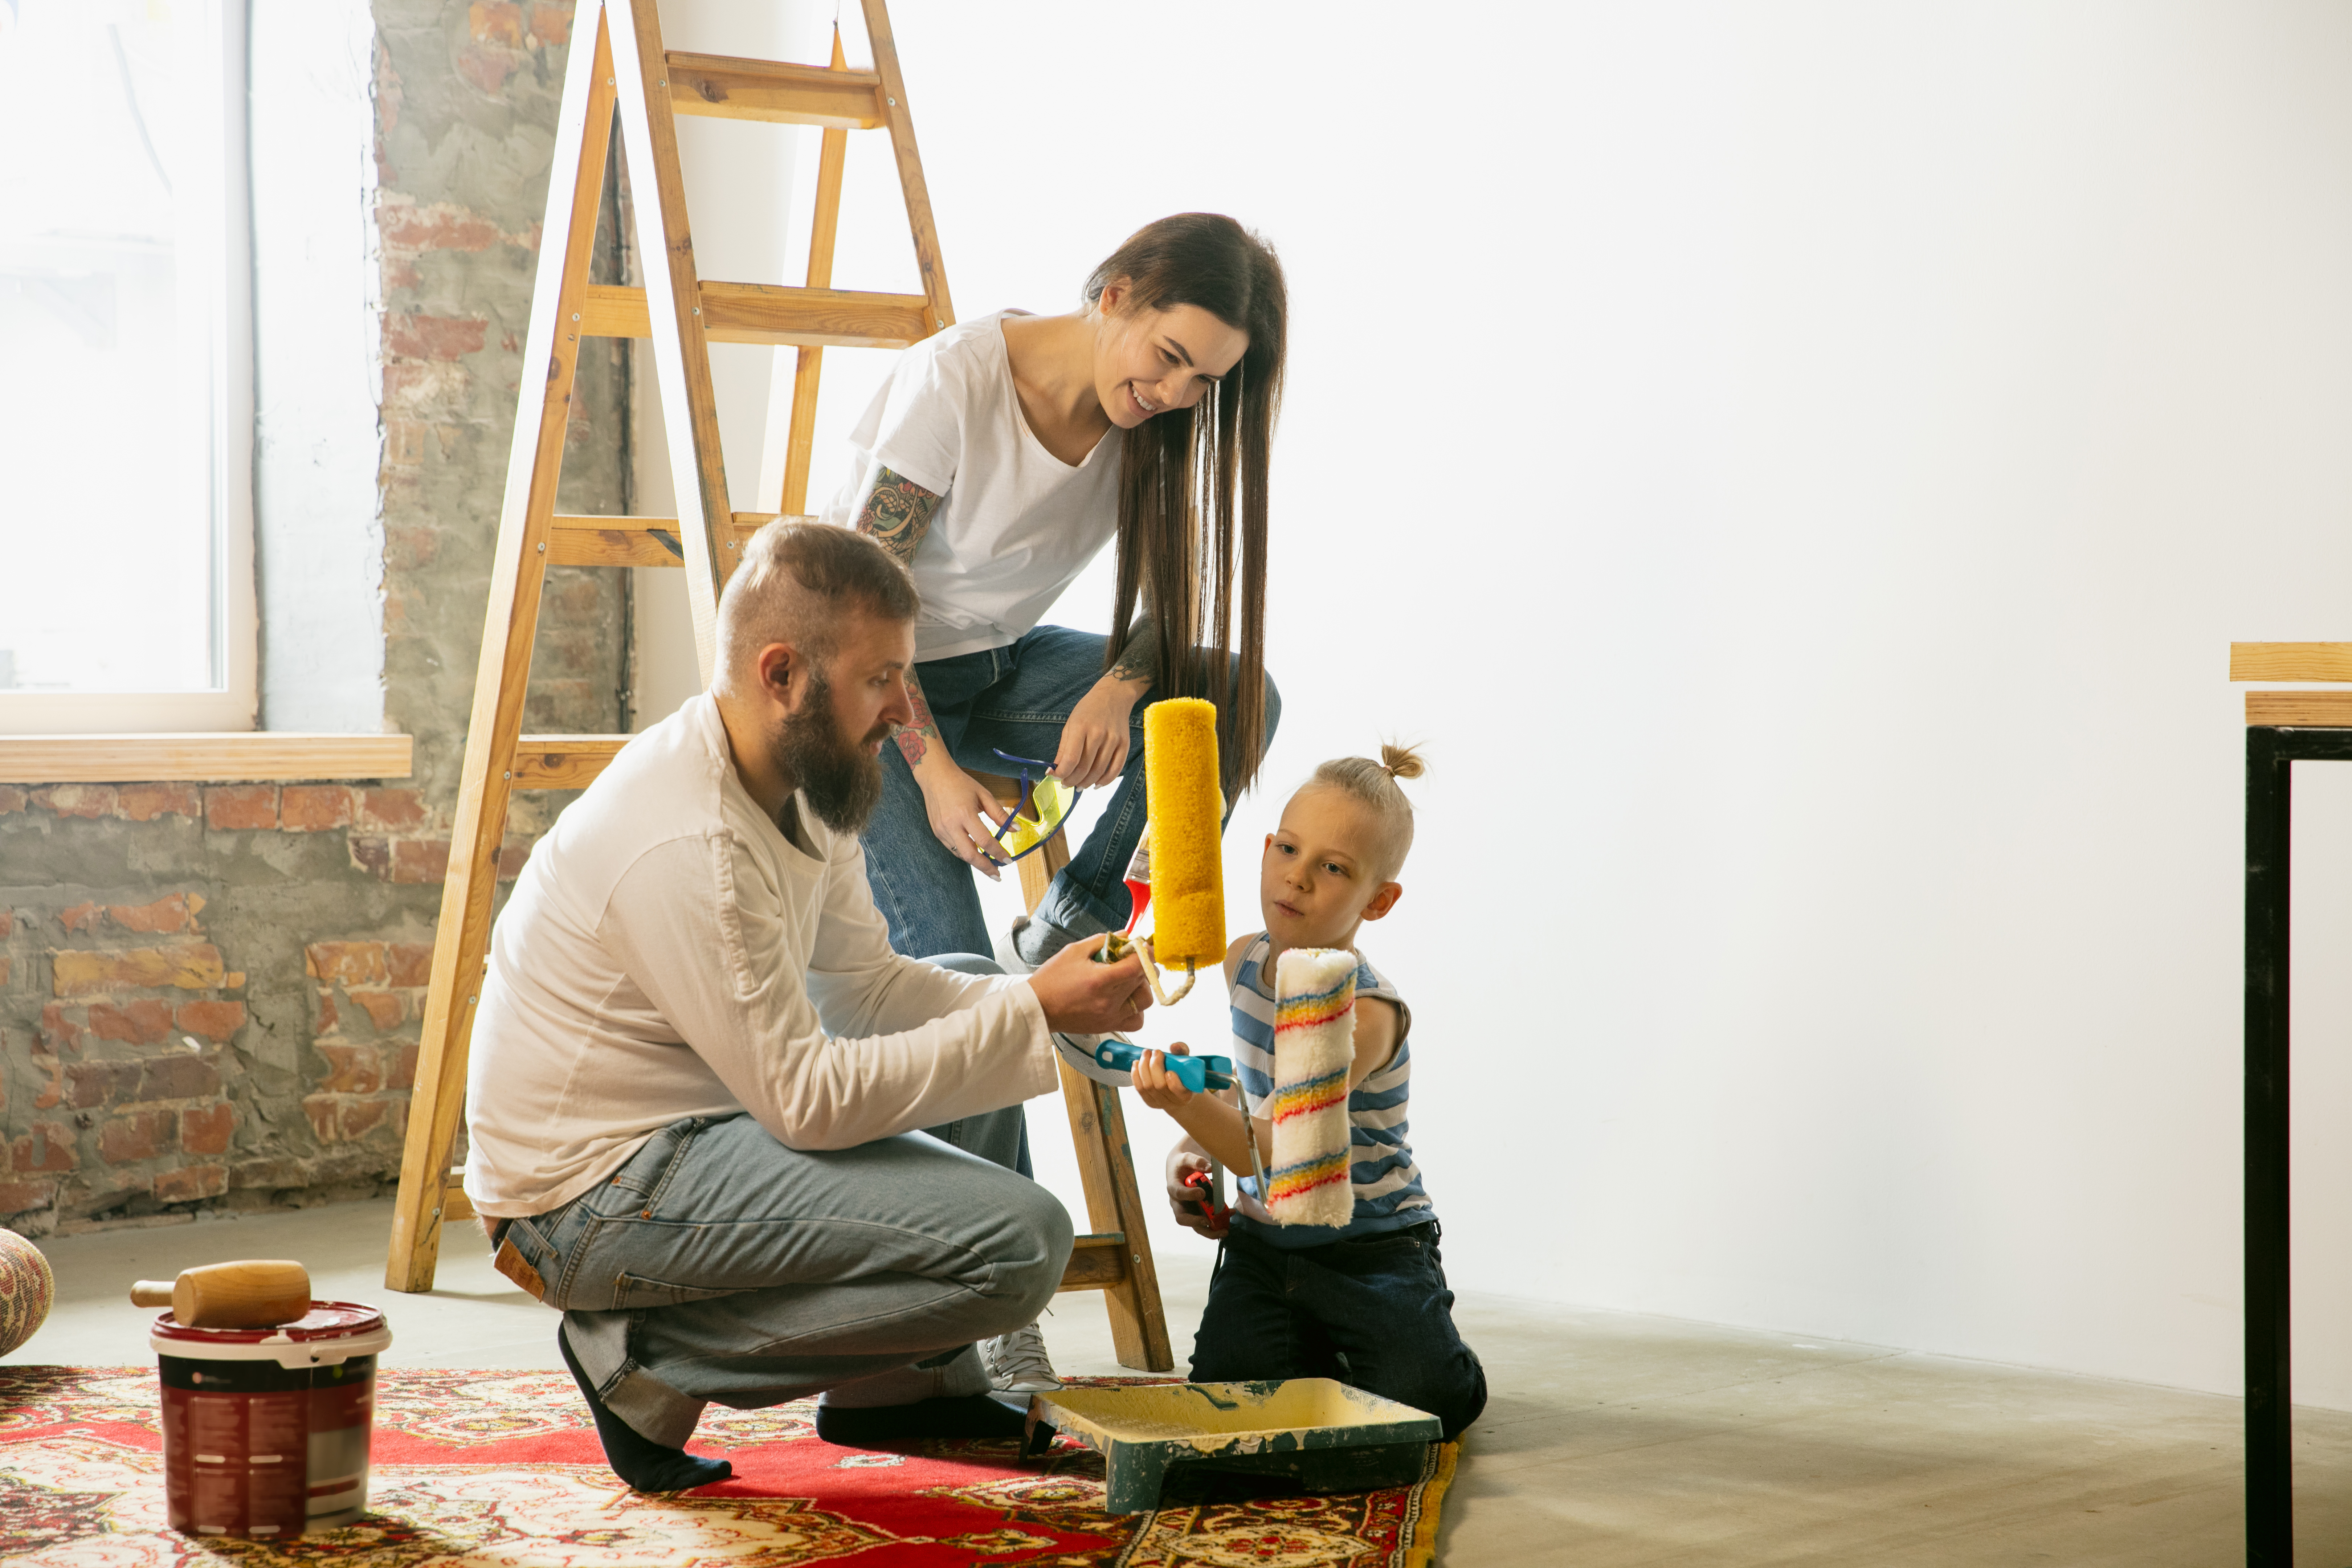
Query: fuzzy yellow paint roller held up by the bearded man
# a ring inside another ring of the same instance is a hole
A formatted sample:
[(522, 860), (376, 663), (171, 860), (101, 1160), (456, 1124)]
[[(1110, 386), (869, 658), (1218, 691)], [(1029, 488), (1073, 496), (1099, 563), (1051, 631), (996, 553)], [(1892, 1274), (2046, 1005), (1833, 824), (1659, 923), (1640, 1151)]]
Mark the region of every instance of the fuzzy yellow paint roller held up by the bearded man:
[[(1216, 703), (1174, 696), (1143, 710), (1143, 806), (1150, 818), (1152, 933), (1143, 973), (1162, 1004), (1181, 1001), (1202, 969), (1225, 961), (1225, 795), (1216, 776)], [(1138, 856), (1143, 860), (1143, 856)], [(1096, 954), (1124, 957), (1112, 938)], [(1160, 990), (1160, 969), (1183, 969), (1178, 990)]]

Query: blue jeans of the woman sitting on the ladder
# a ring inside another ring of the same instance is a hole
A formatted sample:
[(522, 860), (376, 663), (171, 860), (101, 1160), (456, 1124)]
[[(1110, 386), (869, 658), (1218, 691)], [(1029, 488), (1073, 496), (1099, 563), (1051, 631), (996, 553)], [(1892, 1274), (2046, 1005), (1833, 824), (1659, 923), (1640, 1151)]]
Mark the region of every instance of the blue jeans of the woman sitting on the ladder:
[[(1105, 639), (1094, 632), (1040, 625), (1011, 646), (934, 658), (915, 665), (915, 675), (948, 755), (967, 773), (1014, 773), (1016, 764), (995, 752), (1054, 762), (1061, 726), (1103, 679), (1103, 651)], [(1112, 785), (1110, 804), (1037, 905), (1040, 919), (1073, 936), (1127, 924), (1127, 863), (1143, 839), (1143, 710), (1160, 696), (1155, 686), (1136, 703), (1127, 722), (1127, 769)], [(1279, 719), (1282, 696), (1268, 677), (1268, 743)], [(866, 879), (896, 952), (915, 959), (995, 952), (974, 872), (931, 835), (922, 785), (896, 745), (882, 748), (882, 804), (866, 823), (863, 844)]]

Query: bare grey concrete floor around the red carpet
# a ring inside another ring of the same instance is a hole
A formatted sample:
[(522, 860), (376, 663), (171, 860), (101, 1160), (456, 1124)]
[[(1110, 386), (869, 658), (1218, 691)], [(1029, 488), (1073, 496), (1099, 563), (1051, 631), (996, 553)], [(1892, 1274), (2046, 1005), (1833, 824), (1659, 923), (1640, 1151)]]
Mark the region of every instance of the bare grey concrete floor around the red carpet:
[[(136, 1276), (301, 1258), (318, 1295), (379, 1302), (390, 1366), (555, 1368), (555, 1314), (452, 1232), (433, 1295), (383, 1288), (390, 1204), (52, 1241), (56, 1309), (9, 1361), (146, 1361)], [(1178, 1363), (1207, 1272), (1169, 1269)], [(2241, 1561), (2239, 1403), (1877, 1345), (1792, 1340), (1465, 1295), (1494, 1401), (1444, 1507), (1442, 1561), (1717, 1563)], [(1056, 1302), (1065, 1373), (1124, 1368), (1101, 1295)], [(2298, 1561), (2352, 1563), (2352, 1415), (2298, 1410)]]

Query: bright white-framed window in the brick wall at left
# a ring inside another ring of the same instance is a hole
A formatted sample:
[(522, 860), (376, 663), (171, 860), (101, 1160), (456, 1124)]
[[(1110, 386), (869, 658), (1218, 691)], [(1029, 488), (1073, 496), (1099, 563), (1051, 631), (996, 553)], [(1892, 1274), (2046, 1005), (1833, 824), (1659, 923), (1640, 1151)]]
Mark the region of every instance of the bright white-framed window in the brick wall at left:
[(252, 729), (242, 16), (0, 0), (0, 733)]

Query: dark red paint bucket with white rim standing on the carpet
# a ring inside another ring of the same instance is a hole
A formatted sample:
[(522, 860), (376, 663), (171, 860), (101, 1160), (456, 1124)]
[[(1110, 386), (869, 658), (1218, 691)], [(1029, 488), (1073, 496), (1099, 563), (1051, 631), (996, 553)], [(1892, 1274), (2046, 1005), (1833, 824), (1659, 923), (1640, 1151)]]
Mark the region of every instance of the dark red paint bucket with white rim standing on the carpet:
[(282, 1540), (367, 1512), (376, 1354), (393, 1342), (360, 1302), (310, 1302), (275, 1328), (183, 1328), (148, 1345), (162, 1373), (162, 1474), (174, 1530)]

